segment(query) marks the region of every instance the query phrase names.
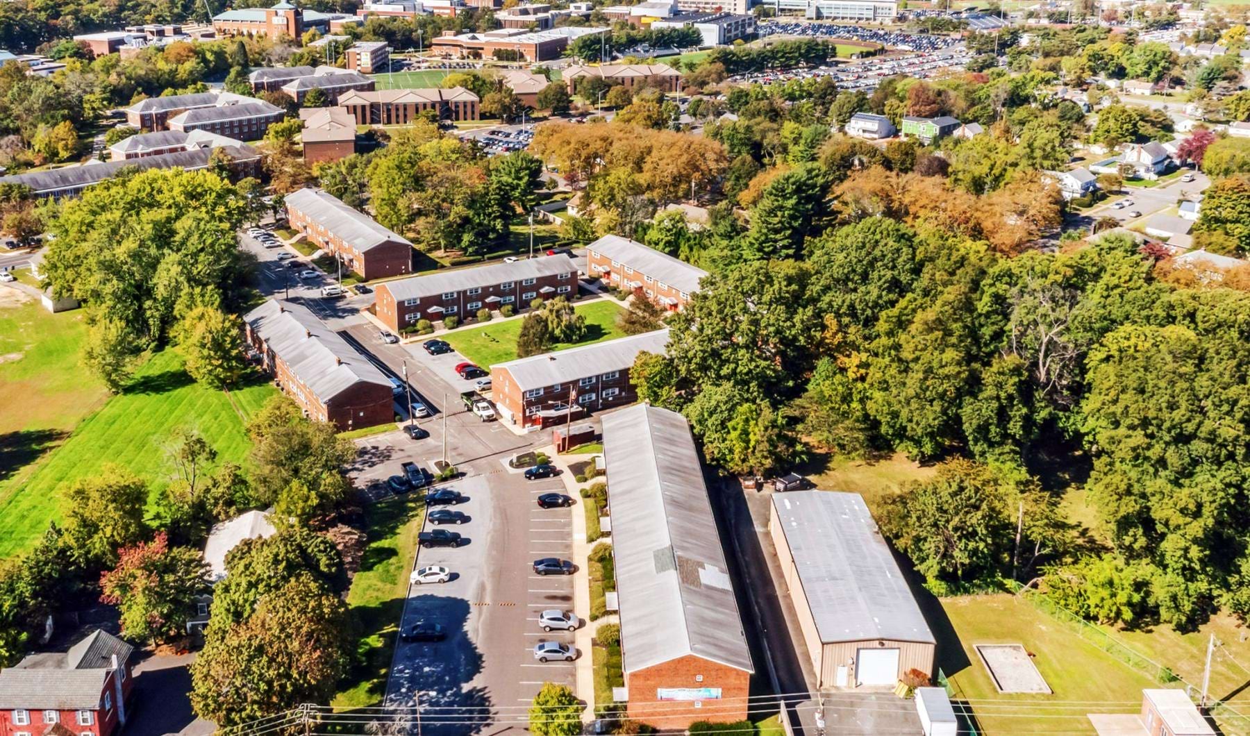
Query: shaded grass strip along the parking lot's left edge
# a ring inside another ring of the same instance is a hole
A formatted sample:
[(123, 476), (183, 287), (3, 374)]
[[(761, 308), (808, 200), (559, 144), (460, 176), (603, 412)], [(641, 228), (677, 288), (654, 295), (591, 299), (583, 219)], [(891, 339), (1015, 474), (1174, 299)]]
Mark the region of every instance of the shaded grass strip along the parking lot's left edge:
[(369, 535), (360, 571), (351, 580), (348, 606), (360, 644), (356, 662), (335, 696), (334, 707), (379, 705), (395, 649), (398, 622), (408, 595), (408, 571), (421, 531), (425, 505), (408, 494), (365, 506)]

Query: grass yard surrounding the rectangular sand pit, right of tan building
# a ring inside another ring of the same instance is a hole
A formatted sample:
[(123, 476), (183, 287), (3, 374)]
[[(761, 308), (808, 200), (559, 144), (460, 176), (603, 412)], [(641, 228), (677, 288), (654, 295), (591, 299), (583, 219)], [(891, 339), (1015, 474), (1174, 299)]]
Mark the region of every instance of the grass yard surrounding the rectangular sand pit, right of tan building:
[[(988, 734), (1089, 732), (1086, 714), (1131, 714), (1141, 689), (1161, 687), (1075, 634), (1026, 600), (1009, 594), (940, 600), (938, 664)], [(958, 644), (955, 637), (958, 636)], [(1008, 695), (994, 686), (976, 656), (978, 644), (1021, 644), (1054, 695)], [(1079, 704), (1079, 705), (1075, 705)]]

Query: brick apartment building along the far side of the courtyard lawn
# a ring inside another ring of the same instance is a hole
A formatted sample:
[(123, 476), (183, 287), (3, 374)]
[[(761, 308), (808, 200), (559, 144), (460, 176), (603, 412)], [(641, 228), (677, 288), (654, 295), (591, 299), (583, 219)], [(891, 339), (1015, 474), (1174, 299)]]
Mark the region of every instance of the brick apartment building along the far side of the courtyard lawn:
[(399, 332), (422, 319), (464, 319), (508, 305), (521, 311), (538, 297), (571, 299), (578, 294), (578, 266), (566, 255), (541, 256), (386, 281), (374, 292), (378, 319)]

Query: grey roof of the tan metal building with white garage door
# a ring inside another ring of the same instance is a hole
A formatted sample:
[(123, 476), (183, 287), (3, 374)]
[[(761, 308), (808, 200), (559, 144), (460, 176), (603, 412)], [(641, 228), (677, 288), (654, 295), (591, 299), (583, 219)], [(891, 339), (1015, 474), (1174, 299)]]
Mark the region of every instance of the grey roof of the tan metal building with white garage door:
[(772, 496), (820, 641), (889, 639), (935, 644), (920, 606), (862, 496)]

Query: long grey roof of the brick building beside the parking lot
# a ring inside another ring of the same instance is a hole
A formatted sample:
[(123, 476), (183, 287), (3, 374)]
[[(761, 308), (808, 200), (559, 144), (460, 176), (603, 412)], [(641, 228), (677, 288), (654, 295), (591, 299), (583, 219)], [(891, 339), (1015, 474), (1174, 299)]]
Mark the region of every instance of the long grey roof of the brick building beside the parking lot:
[(624, 671), (688, 655), (754, 671), (690, 425), (646, 404), (602, 421)]

